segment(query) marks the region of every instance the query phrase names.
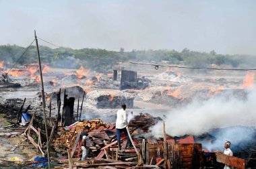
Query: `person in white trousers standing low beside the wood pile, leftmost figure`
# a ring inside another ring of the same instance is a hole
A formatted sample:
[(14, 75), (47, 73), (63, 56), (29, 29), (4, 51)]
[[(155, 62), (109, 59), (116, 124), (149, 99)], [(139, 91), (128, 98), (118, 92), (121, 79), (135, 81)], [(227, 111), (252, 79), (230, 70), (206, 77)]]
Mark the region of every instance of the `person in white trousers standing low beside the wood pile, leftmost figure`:
[(88, 156), (88, 153), (89, 153), (89, 148), (90, 148), (90, 144), (91, 144), (91, 141), (90, 141), (90, 138), (89, 138), (89, 130), (90, 130), (90, 127), (89, 126), (86, 126), (84, 127), (84, 132), (81, 133), (81, 137), (82, 137), (82, 161), (86, 160), (87, 156)]

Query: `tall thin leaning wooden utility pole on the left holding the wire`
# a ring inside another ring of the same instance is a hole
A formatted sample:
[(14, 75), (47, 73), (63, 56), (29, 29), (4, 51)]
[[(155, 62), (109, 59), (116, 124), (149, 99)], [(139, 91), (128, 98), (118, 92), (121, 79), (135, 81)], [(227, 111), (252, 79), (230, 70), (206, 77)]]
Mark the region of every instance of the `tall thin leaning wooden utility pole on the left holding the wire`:
[(38, 47), (38, 40), (36, 37), (36, 30), (34, 31), (34, 38), (36, 40), (36, 49), (37, 49), (37, 56), (38, 56), (38, 64), (40, 68), (40, 78), (41, 78), (41, 84), (42, 84), (42, 111), (44, 113), (44, 125), (45, 125), (45, 133), (46, 133), (46, 151), (47, 151), (47, 158), (48, 158), (48, 168), (50, 168), (50, 154), (49, 154), (49, 138), (48, 138), (48, 131), (47, 131), (47, 123), (46, 123), (46, 115), (45, 115), (45, 98), (44, 98), (44, 81), (42, 80), (42, 66), (41, 66), (41, 60), (40, 60), (40, 54), (39, 54), (39, 47)]

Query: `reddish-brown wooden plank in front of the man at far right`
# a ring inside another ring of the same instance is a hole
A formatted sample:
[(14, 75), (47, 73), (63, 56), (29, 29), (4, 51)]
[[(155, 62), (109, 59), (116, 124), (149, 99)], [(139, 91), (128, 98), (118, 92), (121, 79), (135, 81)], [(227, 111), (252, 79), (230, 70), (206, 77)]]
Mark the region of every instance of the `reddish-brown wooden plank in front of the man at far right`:
[(216, 152), (216, 160), (222, 164), (232, 166), (234, 168), (245, 168), (245, 160), (234, 156), (227, 156), (221, 152)]

